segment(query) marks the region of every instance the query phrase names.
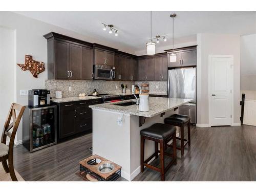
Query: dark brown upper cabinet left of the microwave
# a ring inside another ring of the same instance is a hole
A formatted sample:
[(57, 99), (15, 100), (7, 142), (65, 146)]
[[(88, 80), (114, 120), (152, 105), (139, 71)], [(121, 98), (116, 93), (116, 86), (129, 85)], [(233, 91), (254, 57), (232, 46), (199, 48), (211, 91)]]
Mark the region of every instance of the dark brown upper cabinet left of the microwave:
[(48, 79), (91, 79), (92, 44), (57, 33), (47, 39)]

